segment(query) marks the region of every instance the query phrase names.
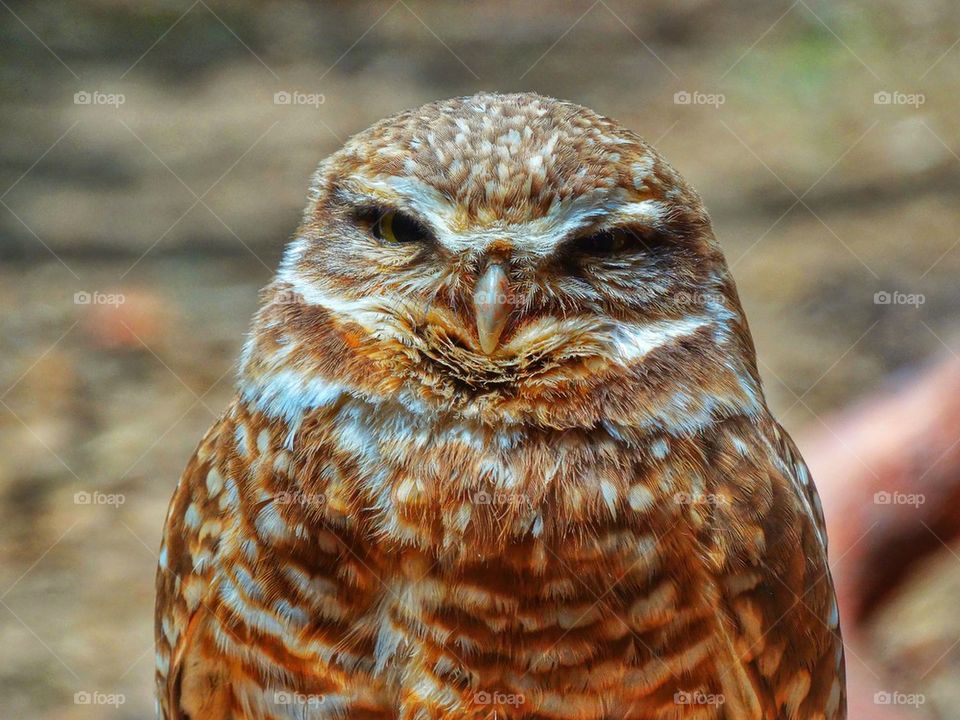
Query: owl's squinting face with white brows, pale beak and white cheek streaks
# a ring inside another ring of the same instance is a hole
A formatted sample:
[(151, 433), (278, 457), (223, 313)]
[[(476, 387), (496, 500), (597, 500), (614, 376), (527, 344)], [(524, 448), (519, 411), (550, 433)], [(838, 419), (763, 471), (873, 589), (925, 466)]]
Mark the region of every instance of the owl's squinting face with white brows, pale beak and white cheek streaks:
[(281, 279), (353, 328), (370, 356), (392, 365), (416, 352), (411, 376), (467, 388), (519, 391), (635, 359), (664, 323), (697, 310), (673, 300), (694, 296), (712, 265), (685, 234), (683, 207), (636, 188), (595, 188), (508, 220), (483, 203), (465, 214), (417, 178), (356, 173), (322, 202), (323, 223), (294, 245), (301, 255)]

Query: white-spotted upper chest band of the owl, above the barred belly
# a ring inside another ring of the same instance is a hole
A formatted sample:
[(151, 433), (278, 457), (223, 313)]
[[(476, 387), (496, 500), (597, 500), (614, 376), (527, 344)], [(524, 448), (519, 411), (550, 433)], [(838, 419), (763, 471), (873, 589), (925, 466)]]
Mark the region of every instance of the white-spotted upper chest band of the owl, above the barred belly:
[(370, 422), (343, 423), (321, 479), (298, 482), (316, 487), (334, 522), (442, 562), (494, 562), (522, 547), (536, 568), (558, 538), (655, 531), (682, 512), (672, 499), (703, 491), (702, 476), (688, 458), (672, 462), (664, 439), (638, 449), (605, 431)]

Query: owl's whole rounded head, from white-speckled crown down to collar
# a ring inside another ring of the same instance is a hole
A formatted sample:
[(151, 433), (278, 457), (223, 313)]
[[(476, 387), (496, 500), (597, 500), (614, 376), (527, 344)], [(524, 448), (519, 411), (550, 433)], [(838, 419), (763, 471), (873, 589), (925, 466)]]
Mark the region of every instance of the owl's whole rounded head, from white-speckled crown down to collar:
[(534, 94), (430, 103), (322, 162), (241, 385), (288, 416), (347, 393), (621, 432), (762, 403), (698, 195), (633, 132)]

